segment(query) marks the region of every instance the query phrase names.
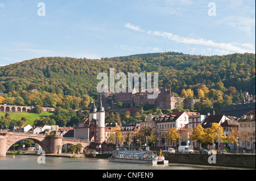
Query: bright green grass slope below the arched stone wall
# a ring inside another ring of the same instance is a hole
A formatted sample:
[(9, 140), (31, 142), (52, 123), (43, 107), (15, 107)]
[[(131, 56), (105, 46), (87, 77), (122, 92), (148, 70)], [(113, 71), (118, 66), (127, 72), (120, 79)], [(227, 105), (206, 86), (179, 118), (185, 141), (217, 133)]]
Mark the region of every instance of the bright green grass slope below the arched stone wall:
[[(21, 120), (22, 117), (26, 117), (26, 124), (34, 125), (34, 121), (36, 119), (41, 119), (41, 117), (48, 117), (53, 115), (51, 112), (42, 112), (38, 113), (30, 113), (30, 112), (8, 112), (12, 119)], [(5, 116), (6, 112), (0, 112), (0, 116)]]

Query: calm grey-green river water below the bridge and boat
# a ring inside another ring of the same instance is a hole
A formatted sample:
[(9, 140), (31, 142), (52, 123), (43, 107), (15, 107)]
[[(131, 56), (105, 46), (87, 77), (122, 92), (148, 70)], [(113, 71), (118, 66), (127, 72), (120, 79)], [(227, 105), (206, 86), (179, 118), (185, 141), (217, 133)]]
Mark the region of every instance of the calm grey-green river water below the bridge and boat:
[[(202, 165), (146, 165), (136, 163), (109, 162), (98, 158), (46, 157), (45, 163), (38, 163), (38, 156), (6, 155), (0, 157), (0, 170), (237, 170), (232, 167)], [(240, 169), (239, 169), (240, 170)]]

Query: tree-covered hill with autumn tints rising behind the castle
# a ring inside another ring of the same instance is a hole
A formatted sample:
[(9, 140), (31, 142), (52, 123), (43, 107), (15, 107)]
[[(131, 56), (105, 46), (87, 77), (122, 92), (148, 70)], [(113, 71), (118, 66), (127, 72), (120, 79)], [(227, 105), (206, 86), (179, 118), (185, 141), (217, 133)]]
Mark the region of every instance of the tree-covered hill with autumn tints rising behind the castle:
[[(127, 72), (158, 72), (159, 87), (171, 87), (172, 92), (178, 95), (183, 89), (192, 89), (194, 96), (197, 96), (196, 90), (200, 85), (214, 86), (218, 82), (224, 84), (225, 89), (222, 90), (224, 93), (231, 86), (238, 92), (247, 91), (255, 95), (255, 54), (251, 53), (196, 56), (167, 52), (101, 58), (101, 60), (70, 57), (35, 58), (2, 66), (0, 91), (9, 92), (10, 97), (21, 96), (24, 99), (22, 95), (25, 94), (24, 90), (35, 88), (46, 94), (42, 98), (54, 95), (55, 99), (62, 99), (65, 96), (69, 99), (73, 96), (85, 100), (88, 99), (83, 98), (85, 95), (91, 97), (97, 95), (96, 86), (100, 81), (97, 80), (97, 74), (109, 73), (110, 68), (115, 68), (116, 72), (122, 71), (126, 75)], [(35, 95), (26, 93), (26, 96)], [(33, 101), (24, 99), (24, 104), (36, 104)], [(57, 105), (47, 102), (40, 104)], [(77, 104), (79, 105), (75, 107), (81, 107), (81, 100)]]

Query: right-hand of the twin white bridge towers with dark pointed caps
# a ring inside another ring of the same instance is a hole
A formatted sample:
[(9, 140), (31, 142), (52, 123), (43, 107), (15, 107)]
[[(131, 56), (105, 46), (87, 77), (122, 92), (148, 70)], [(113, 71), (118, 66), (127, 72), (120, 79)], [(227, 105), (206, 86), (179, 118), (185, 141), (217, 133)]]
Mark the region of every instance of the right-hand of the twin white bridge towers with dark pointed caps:
[(96, 142), (105, 141), (105, 110), (102, 102), (96, 111)]

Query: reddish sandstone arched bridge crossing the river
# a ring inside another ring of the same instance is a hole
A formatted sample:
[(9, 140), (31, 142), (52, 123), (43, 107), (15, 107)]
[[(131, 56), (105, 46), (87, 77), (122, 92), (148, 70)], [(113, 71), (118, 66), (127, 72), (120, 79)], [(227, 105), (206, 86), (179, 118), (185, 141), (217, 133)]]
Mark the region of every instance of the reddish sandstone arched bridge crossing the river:
[[(82, 140), (74, 140), (63, 138), (62, 135), (42, 135), (42, 134), (30, 134), (30, 133), (17, 133), (17, 132), (8, 132), (6, 130), (0, 131), (0, 157), (5, 157), (7, 150), (11, 147), (11, 145), (15, 144), (15, 142), (30, 139), (39, 144), (42, 149), (46, 153), (54, 153), (57, 154), (57, 146), (63, 146), (65, 144), (68, 145), (76, 145), (81, 144), (82, 150), (90, 145), (90, 141), (82, 141)], [(60, 151), (61, 152), (61, 151)]]

